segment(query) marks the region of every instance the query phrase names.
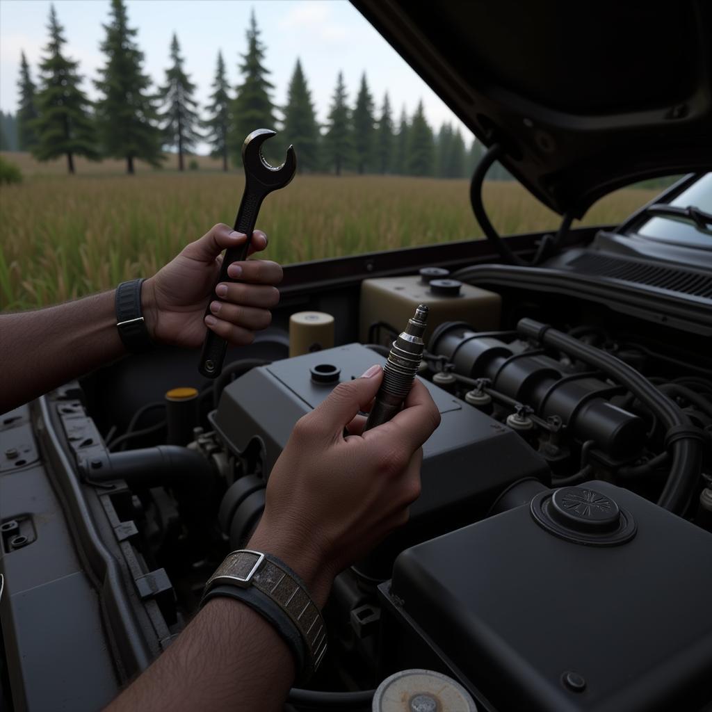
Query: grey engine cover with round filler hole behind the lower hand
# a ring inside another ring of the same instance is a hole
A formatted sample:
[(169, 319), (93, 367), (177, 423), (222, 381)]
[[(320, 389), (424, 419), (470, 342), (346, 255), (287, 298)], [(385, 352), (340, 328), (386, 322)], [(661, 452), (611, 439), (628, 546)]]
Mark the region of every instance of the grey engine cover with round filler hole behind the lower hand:
[[(384, 362), (367, 347), (350, 344), (255, 368), (224, 389), (211, 422), (238, 454), (257, 440), (268, 473), (300, 417), (337, 382)], [(310, 370), (318, 365), (337, 367), (337, 379), (313, 382)], [(422, 493), (410, 508), (408, 525), (379, 549), (383, 566), (367, 567), (376, 577), (390, 575), (393, 557), (405, 546), (481, 518), (508, 484), (528, 476), (548, 481), (550, 476), (544, 459), (514, 431), (429, 381), (423, 383), (440, 410), (441, 424), (423, 447)]]

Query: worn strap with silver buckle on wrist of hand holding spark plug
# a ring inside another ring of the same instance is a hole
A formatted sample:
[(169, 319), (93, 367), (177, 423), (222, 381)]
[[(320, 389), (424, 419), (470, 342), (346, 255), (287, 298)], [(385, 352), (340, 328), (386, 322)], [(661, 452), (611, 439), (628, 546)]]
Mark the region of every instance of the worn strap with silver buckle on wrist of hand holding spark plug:
[(236, 598), (268, 619), (292, 650), (298, 678), (308, 679), (326, 652), (326, 626), (300, 577), (283, 561), (251, 549), (229, 553), (205, 586), (201, 606)]

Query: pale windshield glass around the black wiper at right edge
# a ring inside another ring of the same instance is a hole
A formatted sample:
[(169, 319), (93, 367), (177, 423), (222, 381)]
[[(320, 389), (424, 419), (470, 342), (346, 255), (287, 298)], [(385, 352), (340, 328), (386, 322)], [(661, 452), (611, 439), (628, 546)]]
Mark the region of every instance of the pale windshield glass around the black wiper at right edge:
[[(681, 208), (692, 205), (712, 213), (712, 173), (703, 175), (669, 204)], [(703, 230), (689, 220), (678, 217), (651, 218), (637, 230), (637, 234), (662, 242), (712, 249), (712, 230)]]

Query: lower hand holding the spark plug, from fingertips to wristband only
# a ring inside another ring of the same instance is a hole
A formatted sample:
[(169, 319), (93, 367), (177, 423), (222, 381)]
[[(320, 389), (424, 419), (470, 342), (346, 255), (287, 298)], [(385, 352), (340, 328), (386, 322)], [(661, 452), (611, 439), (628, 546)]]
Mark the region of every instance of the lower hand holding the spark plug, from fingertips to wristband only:
[[(382, 379), (372, 367), (339, 384), (295, 425), (276, 462), (249, 546), (285, 560), (323, 604), (333, 577), (408, 520), (420, 494), (422, 444), (440, 423), (416, 379), (404, 409), (362, 434)], [(349, 434), (344, 436), (344, 428)]]

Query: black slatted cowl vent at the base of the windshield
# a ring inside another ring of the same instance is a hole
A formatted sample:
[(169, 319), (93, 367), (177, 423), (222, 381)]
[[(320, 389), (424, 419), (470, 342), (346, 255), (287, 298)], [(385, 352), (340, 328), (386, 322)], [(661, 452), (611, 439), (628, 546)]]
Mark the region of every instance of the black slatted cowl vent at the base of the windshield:
[(645, 284), (671, 292), (712, 299), (712, 274), (700, 274), (674, 267), (661, 267), (597, 254), (583, 254), (568, 266), (581, 274)]

